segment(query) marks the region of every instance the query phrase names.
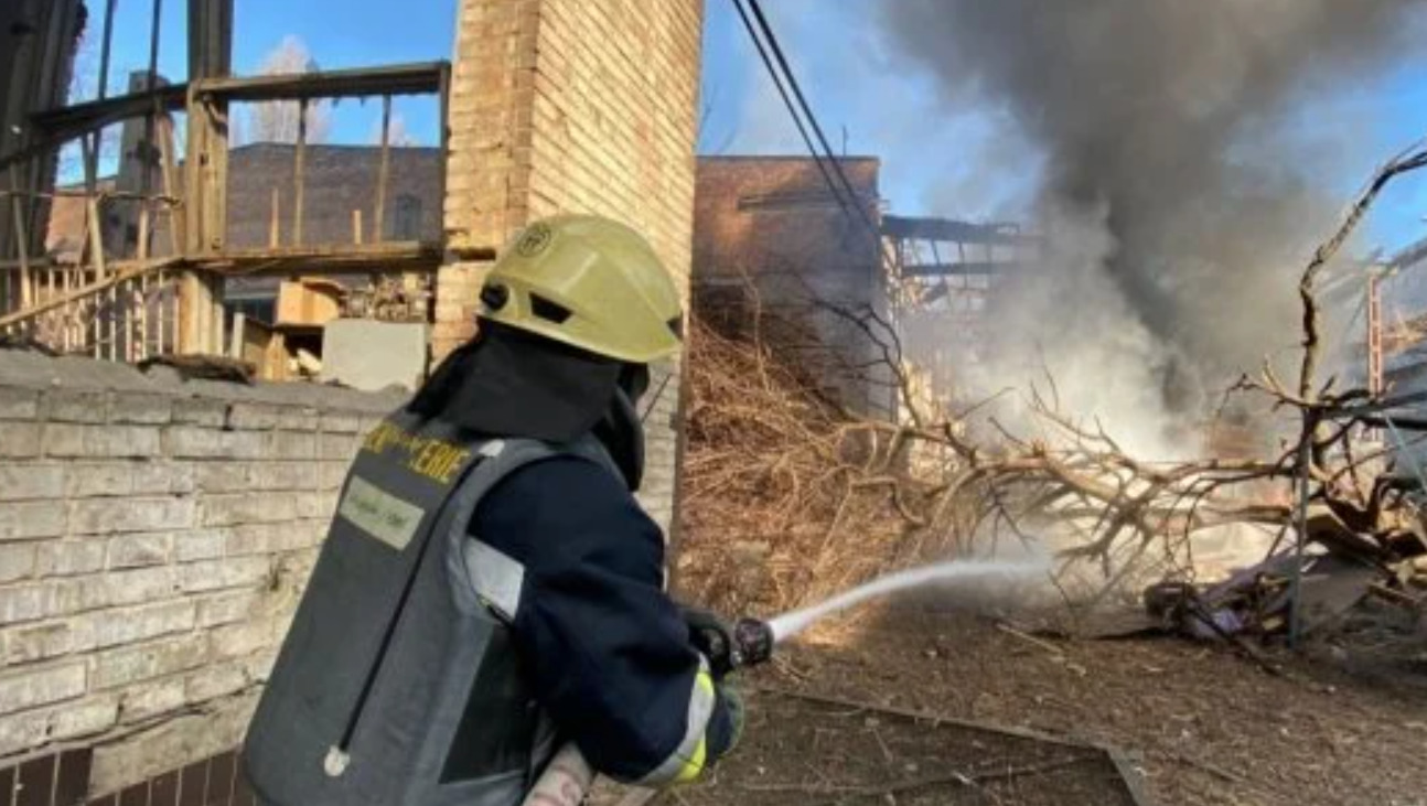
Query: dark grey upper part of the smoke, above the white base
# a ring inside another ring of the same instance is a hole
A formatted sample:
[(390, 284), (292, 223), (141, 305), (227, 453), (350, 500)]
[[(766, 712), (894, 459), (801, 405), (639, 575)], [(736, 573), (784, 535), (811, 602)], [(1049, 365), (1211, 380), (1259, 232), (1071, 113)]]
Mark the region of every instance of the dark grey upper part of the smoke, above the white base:
[(1113, 285), (1194, 384), (1293, 341), (1289, 280), (1344, 201), (1320, 170), (1340, 154), (1303, 143), (1324, 133), (1351, 141), (1363, 121), (1291, 111), (1316, 90), (1351, 87), (1416, 54), (1424, 6), (879, 4), (893, 47), (932, 70), (949, 104), (1005, 104), (1045, 150), (1046, 210), (1103, 213)]

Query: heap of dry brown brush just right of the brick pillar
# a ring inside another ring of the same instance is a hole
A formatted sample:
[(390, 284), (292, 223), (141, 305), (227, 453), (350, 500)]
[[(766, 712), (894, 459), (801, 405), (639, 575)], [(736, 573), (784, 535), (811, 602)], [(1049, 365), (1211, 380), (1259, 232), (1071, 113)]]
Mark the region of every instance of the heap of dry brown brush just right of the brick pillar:
[(910, 479), (886, 466), (876, 431), (761, 340), (695, 324), (689, 347), (684, 593), (782, 609), (893, 565), (906, 521), (878, 478)]

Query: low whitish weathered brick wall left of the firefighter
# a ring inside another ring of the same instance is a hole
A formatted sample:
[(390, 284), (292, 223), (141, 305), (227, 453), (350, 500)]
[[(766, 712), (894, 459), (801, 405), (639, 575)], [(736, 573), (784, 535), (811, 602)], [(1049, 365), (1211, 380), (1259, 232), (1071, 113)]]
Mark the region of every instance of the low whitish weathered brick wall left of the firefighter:
[(398, 402), (0, 351), (0, 767), (91, 746), (103, 795), (231, 749)]

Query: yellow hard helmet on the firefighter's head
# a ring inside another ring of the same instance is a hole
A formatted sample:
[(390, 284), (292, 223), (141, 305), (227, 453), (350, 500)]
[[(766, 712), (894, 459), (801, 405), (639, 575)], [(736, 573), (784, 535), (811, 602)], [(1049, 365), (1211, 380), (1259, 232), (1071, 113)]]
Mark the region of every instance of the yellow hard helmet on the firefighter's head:
[(595, 215), (525, 227), (491, 268), (481, 308), (492, 322), (631, 364), (682, 342), (679, 292), (649, 243)]

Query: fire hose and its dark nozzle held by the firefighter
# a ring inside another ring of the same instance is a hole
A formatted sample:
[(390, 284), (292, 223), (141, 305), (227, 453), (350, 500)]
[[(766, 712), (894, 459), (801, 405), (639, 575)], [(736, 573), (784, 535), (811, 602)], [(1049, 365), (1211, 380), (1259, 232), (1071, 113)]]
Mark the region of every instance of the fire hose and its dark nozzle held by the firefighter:
[[(773, 655), (768, 622), (742, 618), (728, 625), (708, 611), (684, 609), (689, 642), (708, 660), (714, 679), (766, 662)], [(574, 743), (555, 752), (522, 806), (579, 806), (595, 782), (595, 770)]]

